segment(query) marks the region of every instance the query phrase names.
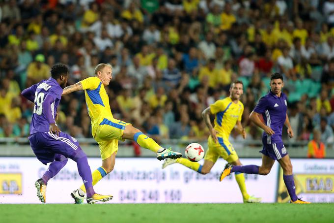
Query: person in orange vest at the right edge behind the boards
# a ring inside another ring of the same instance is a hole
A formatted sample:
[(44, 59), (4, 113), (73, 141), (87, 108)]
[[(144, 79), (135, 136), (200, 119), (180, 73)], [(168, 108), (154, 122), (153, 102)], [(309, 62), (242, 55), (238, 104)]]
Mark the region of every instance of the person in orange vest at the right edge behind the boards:
[(326, 157), (326, 147), (321, 141), (321, 132), (317, 129), (313, 130), (313, 139), (307, 145), (307, 157), (323, 159)]

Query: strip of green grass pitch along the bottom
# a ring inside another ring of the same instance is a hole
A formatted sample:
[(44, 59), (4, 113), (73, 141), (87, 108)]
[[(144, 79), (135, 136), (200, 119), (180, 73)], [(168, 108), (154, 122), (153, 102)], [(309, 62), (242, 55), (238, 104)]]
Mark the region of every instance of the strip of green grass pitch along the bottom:
[(0, 204), (1, 223), (334, 222), (334, 204)]

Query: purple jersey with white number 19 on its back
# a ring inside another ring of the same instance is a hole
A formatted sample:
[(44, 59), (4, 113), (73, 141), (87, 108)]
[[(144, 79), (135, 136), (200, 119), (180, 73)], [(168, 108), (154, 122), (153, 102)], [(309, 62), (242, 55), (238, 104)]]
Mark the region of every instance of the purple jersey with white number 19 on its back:
[(51, 123), (55, 123), (56, 111), (59, 105), (62, 88), (50, 77), (24, 90), (22, 95), (34, 102), (30, 124), (30, 134), (49, 131)]

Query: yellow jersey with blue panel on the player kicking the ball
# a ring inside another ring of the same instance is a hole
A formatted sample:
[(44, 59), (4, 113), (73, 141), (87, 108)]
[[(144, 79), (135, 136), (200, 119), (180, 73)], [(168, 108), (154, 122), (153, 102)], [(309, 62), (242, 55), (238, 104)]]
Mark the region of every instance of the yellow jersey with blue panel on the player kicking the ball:
[(109, 105), (109, 96), (98, 77), (88, 77), (80, 81), (83, 85), (84, 97), (88, 115), (91, 119), (92, 135), (95, 137), (96, 129), (104, 118), (113, 118)]

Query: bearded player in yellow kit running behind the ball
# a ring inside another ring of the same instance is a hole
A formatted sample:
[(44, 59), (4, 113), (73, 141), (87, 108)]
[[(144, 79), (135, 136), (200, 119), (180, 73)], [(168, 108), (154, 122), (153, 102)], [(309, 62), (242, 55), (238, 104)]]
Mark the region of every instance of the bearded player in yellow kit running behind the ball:
[[(242, 134), (244, 139), (246, 138), (246, 131), (241, 125), (244, 105), (239, 100), (240, 96), (243, 94), (243, 83), (241, 81), (235, 81), (231, 84), (229, 91), (229, 97), (216, 101), (202, 112), (204, 122), (210, 130), (208, 150), (206, 151), (204, 157), (204, 164), (200, 165), (198, 162), (192, 162), (185, 158), (165, 159), (163, 168), (172, 163), (178, 162), (191, 168), (192, 170), (197, 171), (198, 173), (207, 174), (210, 172), (219, 157), (222, 157), (232, 165), (242, 165), (232, 144), (228, 141), (228, 136), (230, 135), (231, 130), (235, 128), (240, 134)], [(212, 127), (210, 121), (210, 114), (215, 115), (214, 127)], [(261, 198), (250, 196), (247, 193), (243, 173), (235, 173), (235, 179), (241, 190), (244, 203), (258, 203), (261, 201)]]

